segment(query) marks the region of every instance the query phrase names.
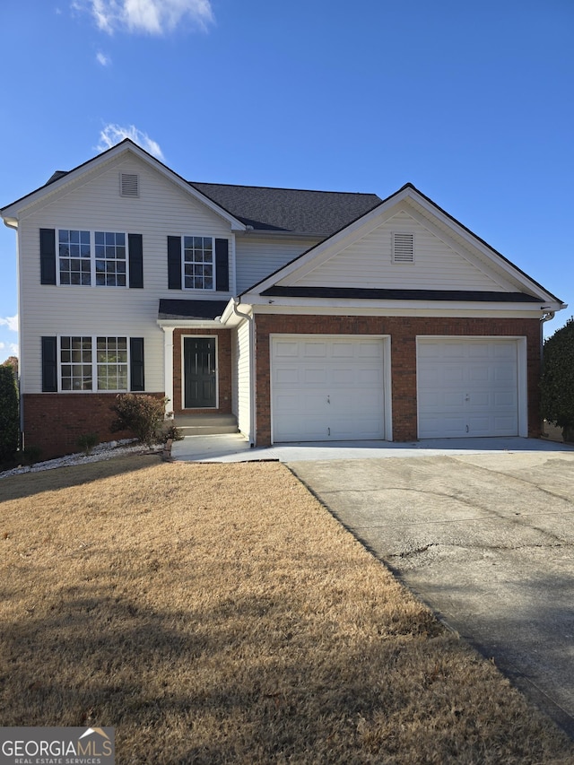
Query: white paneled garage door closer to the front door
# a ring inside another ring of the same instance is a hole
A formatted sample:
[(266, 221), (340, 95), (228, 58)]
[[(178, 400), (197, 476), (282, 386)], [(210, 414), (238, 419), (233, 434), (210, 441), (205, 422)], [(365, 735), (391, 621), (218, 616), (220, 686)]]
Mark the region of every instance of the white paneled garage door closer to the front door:
[(275, 335), (271, 352), (274, 442), (384, 438), (381, 339)]

